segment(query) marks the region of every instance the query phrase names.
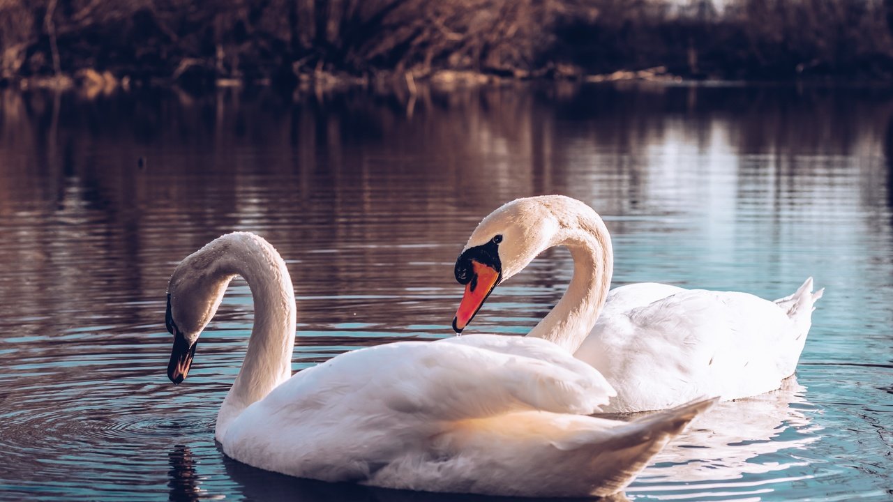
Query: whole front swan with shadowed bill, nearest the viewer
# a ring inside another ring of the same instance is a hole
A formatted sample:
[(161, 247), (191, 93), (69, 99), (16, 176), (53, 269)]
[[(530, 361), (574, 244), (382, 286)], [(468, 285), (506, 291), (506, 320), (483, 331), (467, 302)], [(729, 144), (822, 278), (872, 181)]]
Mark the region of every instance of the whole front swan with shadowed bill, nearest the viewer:
[(715, 401), (631, 423), (587, 416), (614, 395), (601, 374), (546, 340), (495, 335), (358, 349), (292, 376), (288, 269), (245, 232), (216, 238), (171, 276), (175, 384), (237, 275), (255, 324), (214, 437), (227, 456), (268, 471), (394, 489), (610, 495)]

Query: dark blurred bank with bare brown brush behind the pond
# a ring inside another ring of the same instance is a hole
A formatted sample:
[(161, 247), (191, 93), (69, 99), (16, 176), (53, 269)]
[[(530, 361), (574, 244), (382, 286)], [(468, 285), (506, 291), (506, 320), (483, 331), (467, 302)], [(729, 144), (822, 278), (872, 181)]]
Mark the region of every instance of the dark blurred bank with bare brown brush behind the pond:
[(893, 78), (890, 0), (9, 0), (0, 81)]

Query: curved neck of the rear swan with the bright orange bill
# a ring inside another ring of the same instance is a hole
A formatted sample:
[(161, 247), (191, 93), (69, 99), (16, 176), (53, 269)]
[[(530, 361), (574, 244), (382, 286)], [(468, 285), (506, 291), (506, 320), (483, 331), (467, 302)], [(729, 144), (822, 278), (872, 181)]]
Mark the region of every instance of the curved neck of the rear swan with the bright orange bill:
[(611, 236), (597, 215), (580, 215), (559, 231), (548, 247), (571, 250), (573, 279), (555, 308), (528, 336), (547, 339), (571, 353), (596, 325), (613, 274)]

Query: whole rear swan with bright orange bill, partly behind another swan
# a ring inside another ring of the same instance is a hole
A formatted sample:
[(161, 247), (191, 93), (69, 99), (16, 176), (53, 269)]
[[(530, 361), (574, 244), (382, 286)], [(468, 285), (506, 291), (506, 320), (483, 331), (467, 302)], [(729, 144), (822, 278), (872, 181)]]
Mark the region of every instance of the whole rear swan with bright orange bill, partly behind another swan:
[(547, 339), (592, 365), (617, 391), (605, 411), (678, 406), (778, 389), (794, 373), (809, 331), (809, 278), (774, 302), (747, 293), (682, 289), (652, 282), (609, 292), (611, 236), (588, 205), (563, 196), (520, 198), (490, 213), (455, 264), (465, 291), (453, 320), (461, 334), (499, 283), (549, 247), (571, 251), (564, 296), (527, 335)]

